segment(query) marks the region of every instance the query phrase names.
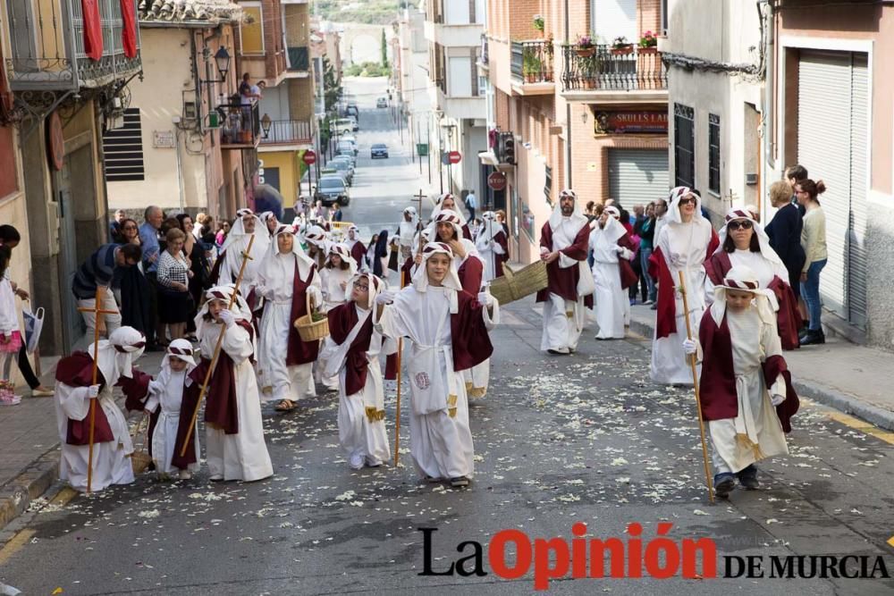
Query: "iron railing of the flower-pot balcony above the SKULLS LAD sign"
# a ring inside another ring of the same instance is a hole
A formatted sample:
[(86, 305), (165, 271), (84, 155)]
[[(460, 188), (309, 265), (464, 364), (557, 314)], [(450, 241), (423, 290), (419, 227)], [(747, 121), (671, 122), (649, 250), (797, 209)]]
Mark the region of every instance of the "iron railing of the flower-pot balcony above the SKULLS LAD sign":
[(661, 90), (668, 88), (662, 55), (654, 47), (563, 46), (562, 90)]

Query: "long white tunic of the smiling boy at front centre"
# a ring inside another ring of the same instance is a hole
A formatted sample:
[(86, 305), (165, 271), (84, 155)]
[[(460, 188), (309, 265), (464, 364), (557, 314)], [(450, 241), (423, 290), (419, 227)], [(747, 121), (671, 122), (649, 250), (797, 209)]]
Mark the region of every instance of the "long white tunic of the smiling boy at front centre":
[[(432, 478), (474, 472), (466, 386), (453, 370), (449, 291), (429, 286), (419, 292), (408, 286), (384, 308), (377, 326), (389, 337), (409, 337), (410, 451), (417, 471)], [(482, 311), (489, 329), (495, 321), (486, 308)]]

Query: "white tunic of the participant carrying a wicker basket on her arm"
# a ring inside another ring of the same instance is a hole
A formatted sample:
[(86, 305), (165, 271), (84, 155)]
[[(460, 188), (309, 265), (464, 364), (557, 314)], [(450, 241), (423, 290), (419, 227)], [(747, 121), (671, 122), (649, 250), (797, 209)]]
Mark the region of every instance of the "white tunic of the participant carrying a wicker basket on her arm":
[[(262, 273), (258, 276), (257, 285), (265, 288), (264, 316), (261, 317), (260, 333), (257, 342), (257, 376), (261, 385), (261, 397), (265, 401), (314, 397), (316, 389), (313, 384), (311, 370), (313, 363), (304, 365), (285, 364), (285, 355), (289, 351), (289, 332), (294, 321), (291, 320), (291, 297), (294, 293), (295, 259), (292, 253), (277, 253), (274, 257), (276, 267), (266, 279)], [(307, 280), (310, 265), (303, 259), (298, 261), (298, 273), (302, 280)], [(321, 287), (320, 276), (314, 273), (311, 286)]]

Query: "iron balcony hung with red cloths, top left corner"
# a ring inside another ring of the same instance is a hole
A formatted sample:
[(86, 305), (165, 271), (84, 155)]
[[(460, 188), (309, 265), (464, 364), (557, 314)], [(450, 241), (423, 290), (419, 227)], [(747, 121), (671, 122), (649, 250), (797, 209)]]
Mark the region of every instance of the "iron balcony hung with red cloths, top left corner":
[(142, 70), (139, 35), (137, 55), (124, 54), (119, 0), (98, 4), (103, 52), (94, 60), (84, 51), (80, 0), (6, 0), (11, 48), (6, 63), (13, 91), (99, 88)]

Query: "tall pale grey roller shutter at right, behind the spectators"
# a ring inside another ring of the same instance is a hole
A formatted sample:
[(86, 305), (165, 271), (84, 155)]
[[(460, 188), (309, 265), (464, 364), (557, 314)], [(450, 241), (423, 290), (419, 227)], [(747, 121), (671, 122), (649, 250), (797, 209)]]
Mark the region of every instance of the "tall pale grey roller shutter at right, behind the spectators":
[[(823, 180), (828, 262), (823, 306), (865, 324), (865, 55), (802, 52), (798, 66), (797, 162)], [(829, 101), (834, 97), (835, 101)]]

